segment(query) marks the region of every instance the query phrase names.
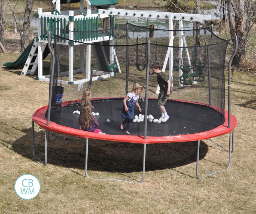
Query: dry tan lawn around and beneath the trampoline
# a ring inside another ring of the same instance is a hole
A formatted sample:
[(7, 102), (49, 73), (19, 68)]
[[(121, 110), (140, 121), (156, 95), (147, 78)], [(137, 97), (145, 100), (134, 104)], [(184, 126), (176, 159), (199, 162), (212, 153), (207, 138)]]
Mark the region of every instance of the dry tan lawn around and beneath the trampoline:
[[(0, 55), (0, 212), (1, 213), (254, 213), (256, 78), (252, 73), (232, 74), (232, 114), (238, 120), (229, 170), (198, 180), (195, 142), (147, 145), (146, 174), (142, 184), (96, 181), (84, 175), (85, 140), (54, 135), (48, 143), (48, 164), (32, 154), (31, 116), (48, 104), (48, 82), (20, 77), (21, 70), (2, 66), (19, 54)], [(124, 96), (125, 74), (93, 82), (93, 97)], [(150, 77), (150, 97), (156, 80)], [(131, 71), (129, 85), (142, 81)], [(226, 84), (227, 85), (227, 84)], [(184, 99), (188, 89), (174, 91)], [(80, 99), (77, 85), (65, 86), (64, 100)], [(226, 100), (227, 101), (227, 100)], [(227, 102), (226, 102), (227, 104)], [(35, 136), (42, 134), (35, 125)], [(228, 147), (228, 135), (214, 139)], [(35, 140), (44, 157), (44, 141)], [(224, 169), (228, 153), (203, 140), (199, 174)], [(89, 174), (140, 180), (142, 145), (89, 139)], [(14, 192), (22, 174), (41, 182), (39, 195), (23, 200)]]

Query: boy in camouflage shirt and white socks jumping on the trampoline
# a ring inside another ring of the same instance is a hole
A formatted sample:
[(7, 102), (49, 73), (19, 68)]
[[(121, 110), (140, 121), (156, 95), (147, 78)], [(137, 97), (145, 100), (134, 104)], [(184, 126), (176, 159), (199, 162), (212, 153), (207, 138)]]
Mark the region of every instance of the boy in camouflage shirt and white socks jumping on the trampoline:
[(160, 92), (158, 96), (157, 105), (161, 111), (161, 118), (164, 119), (163, 122), (166, 122), (169, 119), (169, 116), (164, 108), (164, 104), (166, 103), (172, 91), (170, 90), (170, 80), (166, 77), (166, 75), (161, 71), (161, 65), (158, 62), (154, 62), (150, 67), (155, 74), (157, 74), (157, 83), (160, 87)]

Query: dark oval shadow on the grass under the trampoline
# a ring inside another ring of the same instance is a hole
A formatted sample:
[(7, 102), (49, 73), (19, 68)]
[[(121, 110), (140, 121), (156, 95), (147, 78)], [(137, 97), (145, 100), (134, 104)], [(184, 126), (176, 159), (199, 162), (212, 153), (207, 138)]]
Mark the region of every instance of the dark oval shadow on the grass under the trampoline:
[[(22, 130), (27, 135), (13, 142), (18, 154), (36, 161), (32, 153), (32, 130)], [(44, 140), (36, 137), (35, 153), (44, 161)], [(47, 163), (68, 168), (84, 169), (86, 139), (54, 133), (47, 141)], [(107, 172), (141, 172), (143, 164), (143, 144), (102, 141), (89, 139), (88, 170)], [(208, 152), (208, 146), (200, 143), (200, 159)], [(172, 169), (196, 162), (197, 142), (157, 143), (146, 145), (146, 171)]]

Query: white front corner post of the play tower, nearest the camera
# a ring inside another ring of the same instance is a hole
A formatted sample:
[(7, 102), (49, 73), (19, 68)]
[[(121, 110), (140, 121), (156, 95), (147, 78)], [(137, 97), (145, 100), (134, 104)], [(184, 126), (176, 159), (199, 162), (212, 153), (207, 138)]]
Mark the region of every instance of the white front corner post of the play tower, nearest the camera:
[[(69, 16), (74, 16), (74, 11), (69, 11)], [(74, 40), (74, 22), (69, 21), (69, 39)], [(71, 42), (69, 41), (69, 42)], [(68, 81), (73, 82), (74, 45), (68, 46)]]

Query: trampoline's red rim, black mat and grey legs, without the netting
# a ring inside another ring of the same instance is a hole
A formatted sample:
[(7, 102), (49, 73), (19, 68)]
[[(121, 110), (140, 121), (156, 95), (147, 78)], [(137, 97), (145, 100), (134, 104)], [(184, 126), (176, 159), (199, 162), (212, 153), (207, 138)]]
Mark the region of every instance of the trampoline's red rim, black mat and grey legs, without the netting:
[[(63, 102), (59, 108), (51, 109), (50, 124), (47, 126), (47, 108), (44, 106), (39, 108), (32, 116), (32, 127), (34, 131), (35, 122), (39, 126), (45, 128), (45, 130), (53, 131), (60, 134), (66, 134), (71, 136), (78, 136), (86, 138), (86, 167), (85, 173), (87, 177), (87, 159), (88, 159), (88, 138), (100, 139), (100, 140), (111, 140), (121, 141), (129, 143), (141, 143), (144, 144), (144, 163), (143, 163), (143, 177), (145, 177), (145, 148), (146, 144), (149, 143), (173, 143), (173, 142), (184, 142), (184, 141), (198, 141), (197, 148), (197, 167), (196, 175), (197, 178), (201, 178), (198, 175), (199, 167), (199, 148), (200, 140), (212, 139), (223, 134), (232, 133), (232, 150), (234, 144), (234, 128), (237, 124), (237, 120), (234, 115), (231, 114), (230, 128), (228, 128), (228, 112), (222, 115), (217, 107), (209, 106), (203, 103), (195, 103), (185, 100), (168, 100), (166, 102), (166, 110), (172, 112), (169, 114), (170, 118), (165, 123), (154, 123), (147, 120), (147, 138), (144, 139), (144, 122), (135, 122), (130, 128), (131, 135), (127, 135), (120, 129), (121, 111), (123, 106), (123, 97), (115, 98), (97, 98), (92, 99), (94, 109), (97, 109), (99, 116), (96, 116), (102, 129), (106, 134), (96, 134), (79, 129), (77, 120), (79, 115), (73, 113), (74, 111), (80, 110), (80, 100), (72, 100)], [(143, 104), (141, 104), (143, 106)], [(154, 115), (155, 118), (160, 118), (159, 109), (157, 106), (157, 99), (148, 98), (148, 114)], [(142, 111), (141, 114), (144, 112)], [(135, 114), (139, 114), (138, 110), (135, 110)], [(109, 119), (110, 122), (106, 122)], [(45, 131), (46, 132), (46, 131)], [(45, 133), (46, 135), (46, 133)], [(33, 134), (34, 136), (34, 134)], [(213, 142), (213, 141), (212, 141)], [(214, 143), (214, 142), (213, 142)], [(219, 145), (219, 144), (218, 144)], [(45, 138), (45, 164), (47, 162), (47, 138)], [(219, 145), (221, 146), (221, 145)], [(224, 147), (223, 147), (224, 148)], [(225, 148), (224, 148), (225, 149)], [(231, 153), (231, 135), (230, 135), (230, 149)], [(34, 139), (33, 139), (33, 154), (34, 150)], [(229, 154), (230, 155), (230, 154)], [(39, 159), (39, 158), (38, 158)], [(229, 156), (230, 159), (230, 156)], [(39, 159), (40, 160), (40, 159)], [(41, 160), (40, 160), (41, 161)], [(229, 168), (230, 161), (228, 164)], [(219, 171), (216, 171), (219, 172)], [(212, 172), (214, 174), (216, 172)], [(208, 174), (208, 175), (211, 175)], [(206, 176), (208, 176), (206, 175)], [(204, 177), (206, 177), (204, 176)], [(101, 180), (101, 179), (99, 179)], [(102, 179), (102, 180), (117, 180), (118, 179)], [(130, 182), (130, 181), (126, 181)], [(133, 183), (133, 182), (132, 182)]]

